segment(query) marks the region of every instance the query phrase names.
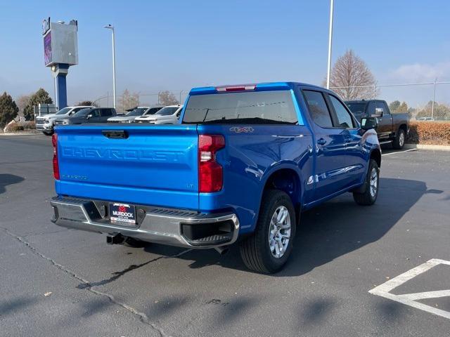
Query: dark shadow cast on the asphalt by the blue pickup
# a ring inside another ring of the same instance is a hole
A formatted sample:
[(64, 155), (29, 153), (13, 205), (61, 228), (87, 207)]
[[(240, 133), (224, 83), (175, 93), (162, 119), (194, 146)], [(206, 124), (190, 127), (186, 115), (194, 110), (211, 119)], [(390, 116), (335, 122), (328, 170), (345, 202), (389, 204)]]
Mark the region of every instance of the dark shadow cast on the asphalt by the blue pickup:
[[(352, 194), (346, 193), (305, 211), (297, 227), (288, 264), (271, 276), (304, 275), (315, 267), (376, 242), (426, 193), (427, 187), (422, 181), (380, 178), (380, 193), (373, 206), (359, 206), (353, 201)], [(214, 251), (191, 251), (179, 258), (193, 260), (189, 265), (191, 268), (221, 265), (248, 271), (240, 260), (237, 245), (225, 256)]]

